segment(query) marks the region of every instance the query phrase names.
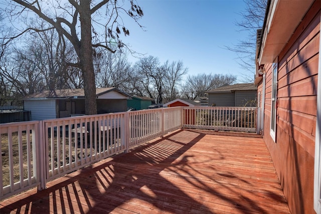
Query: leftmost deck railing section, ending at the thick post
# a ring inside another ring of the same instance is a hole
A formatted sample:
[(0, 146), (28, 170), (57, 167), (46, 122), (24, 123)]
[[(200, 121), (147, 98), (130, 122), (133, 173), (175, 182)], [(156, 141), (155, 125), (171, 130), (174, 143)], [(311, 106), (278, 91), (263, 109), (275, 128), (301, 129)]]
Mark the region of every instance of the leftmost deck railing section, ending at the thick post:
[(39, 121), (0, 124), (0, 199), (41, 184)]

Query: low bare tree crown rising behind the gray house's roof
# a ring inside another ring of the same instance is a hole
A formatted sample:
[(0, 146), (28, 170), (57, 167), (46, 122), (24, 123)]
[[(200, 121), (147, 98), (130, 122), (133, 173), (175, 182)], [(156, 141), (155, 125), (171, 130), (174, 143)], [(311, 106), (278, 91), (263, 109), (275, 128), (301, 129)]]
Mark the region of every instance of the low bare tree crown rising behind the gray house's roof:
[(198, 74), (189, 75), (183, 86), (183, 91), (188, 99), (195, 100), (197, 97), (205, 96), (205, 92), (218, 88), (224, 84), (232, 84), (236, 76), (220, 74)]

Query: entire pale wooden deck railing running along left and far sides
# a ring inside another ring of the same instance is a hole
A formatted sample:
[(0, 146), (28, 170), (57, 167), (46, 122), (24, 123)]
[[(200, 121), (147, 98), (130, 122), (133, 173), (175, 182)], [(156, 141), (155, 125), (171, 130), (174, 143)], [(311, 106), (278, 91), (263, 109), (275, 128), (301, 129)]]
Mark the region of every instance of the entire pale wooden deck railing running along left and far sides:
[(174, 107), (0, 124), (0, 200), (182, 127), (253, 131), (255, 115)]

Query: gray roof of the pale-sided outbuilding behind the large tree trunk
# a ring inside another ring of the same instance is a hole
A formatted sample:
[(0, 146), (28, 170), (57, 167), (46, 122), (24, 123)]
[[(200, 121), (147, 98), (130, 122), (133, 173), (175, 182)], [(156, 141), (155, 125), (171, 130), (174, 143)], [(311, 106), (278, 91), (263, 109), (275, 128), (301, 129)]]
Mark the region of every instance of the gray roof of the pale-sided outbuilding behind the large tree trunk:
[[(116, 91), (118, 93), (123, 94), (124, 96), (131, 97), (130, 95), (126, 94), (125, 92), (120, 91), (114, 87), (111, 88), (96, 88), (96, 96), (100, 96), (106, 94), (111, 91)], [(31, 100), (31, 99), (63, 99), (63, 98), (85, 98), (84, 89), (61, 89), (61, 90), (53, 90), (53, 91), (42, 91), (37, 92), (31, 95), (28, 95), (24, 98), (24, 100)]]

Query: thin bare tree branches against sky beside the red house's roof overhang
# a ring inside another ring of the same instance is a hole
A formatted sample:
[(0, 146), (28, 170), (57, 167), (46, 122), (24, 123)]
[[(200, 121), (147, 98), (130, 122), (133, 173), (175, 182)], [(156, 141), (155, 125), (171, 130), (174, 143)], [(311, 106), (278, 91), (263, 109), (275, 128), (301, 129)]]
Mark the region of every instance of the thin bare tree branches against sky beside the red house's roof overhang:
[(256, 51), (256, 32), (261, 29), (264, 22), (267, 0), (243, 0), (246, 4), (245, 10), (240, 12), (242, 19), (236, 22), (240, 31), (248, 32), (245, 40), (240, 40), (233, 47), (226, 47), (238, 56), (242, 82), (253, 82), (255, 74), (255, 51)]

